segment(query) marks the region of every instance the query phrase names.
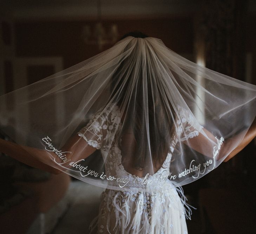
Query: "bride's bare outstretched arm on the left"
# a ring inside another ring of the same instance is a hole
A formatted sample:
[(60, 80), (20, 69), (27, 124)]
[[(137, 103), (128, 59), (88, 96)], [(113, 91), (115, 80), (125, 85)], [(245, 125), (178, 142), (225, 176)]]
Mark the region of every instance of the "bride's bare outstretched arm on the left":
[[(83, 158), (87, 158), (94, 151), (96, 151), (96, 148), (89, 146), (87, 143), (85, 143), (84, 140), (80, 139), (80, 136), (75, 134), (60, 149), (62, 152), (71, 152), (67, 157), (69, 159), (72, 158), (72, 161), (78, 160), (81, 156), (83, 156)], [(54, 174), (61, 173), (61, 171), (57, 169), (57, 163), (63, 163), (63, 161), (61, 161), (61, 159), (54, 152), (28, 146), (21, 146), (17, 143), (6, 141), (4, 139), (0, 139), (0, 152), (5, 153), (29, 166), (36, 167)], [(50, 156), (55, 158), (57, 163), (54, 162)], [(65, 163), (65, 167), (68, 168), (69, 164)]]

